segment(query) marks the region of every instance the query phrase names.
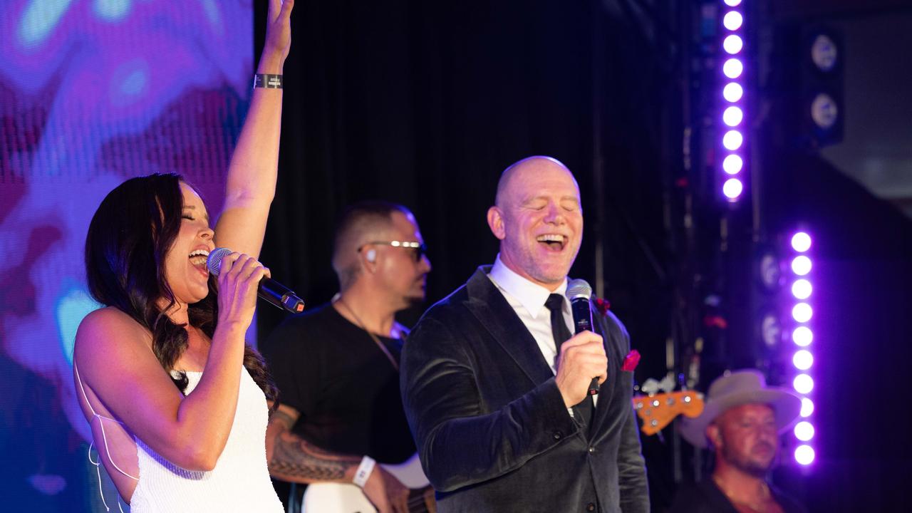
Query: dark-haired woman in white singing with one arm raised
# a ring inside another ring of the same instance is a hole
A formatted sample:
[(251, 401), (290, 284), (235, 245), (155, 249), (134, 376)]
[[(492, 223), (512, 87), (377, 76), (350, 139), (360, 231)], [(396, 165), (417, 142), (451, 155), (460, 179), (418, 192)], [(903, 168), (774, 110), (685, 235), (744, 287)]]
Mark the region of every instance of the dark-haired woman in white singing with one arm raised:
[[(269, 2), (258, 75), (282, 73), (292, 5)], [(269, 275), (256, 258), (282, 109), (280, 77), (256, 85), (214, 231), (199, 194), (175, 174), (120, 184), (88, 228), (88, 288), (106, 308), (79, 325), (77, 396), (134, 513), (282, 511), (266, 469), (275, 387), (244, 344), (257, 284)], [(215, 246), (234, 251), (217, 278), (206, 269)]]

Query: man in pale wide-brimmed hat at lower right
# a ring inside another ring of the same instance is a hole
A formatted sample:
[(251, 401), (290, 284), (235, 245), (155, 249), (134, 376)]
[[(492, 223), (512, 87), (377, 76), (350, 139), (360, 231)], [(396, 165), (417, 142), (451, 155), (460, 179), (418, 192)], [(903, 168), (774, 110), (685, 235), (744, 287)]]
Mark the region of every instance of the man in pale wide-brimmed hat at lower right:
[(715, 450), (716, 467), (711, 479), (679, 489), (671, 513), (804, 512), (766, 482), (779, 452), (779, 434), (792, 427), (800, 412), (801, 399), (766, 386), (759, 371), (717, 378), (703, 413), (679, 426), (688, 442)]

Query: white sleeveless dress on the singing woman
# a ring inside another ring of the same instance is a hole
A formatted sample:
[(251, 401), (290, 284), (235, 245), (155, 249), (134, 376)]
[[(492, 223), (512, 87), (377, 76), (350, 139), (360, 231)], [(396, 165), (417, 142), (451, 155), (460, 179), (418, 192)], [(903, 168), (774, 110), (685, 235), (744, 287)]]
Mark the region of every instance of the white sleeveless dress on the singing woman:
[[(202, 372), (187, 372), (187, 394)], [(269, 409), (263, 391), (244, 367), (228, 442), (209, 472), (185, 470), (136, 438), (140, 479), (130, 499), (132, 513), (256, 511), (282, 513), (266, 467)]]

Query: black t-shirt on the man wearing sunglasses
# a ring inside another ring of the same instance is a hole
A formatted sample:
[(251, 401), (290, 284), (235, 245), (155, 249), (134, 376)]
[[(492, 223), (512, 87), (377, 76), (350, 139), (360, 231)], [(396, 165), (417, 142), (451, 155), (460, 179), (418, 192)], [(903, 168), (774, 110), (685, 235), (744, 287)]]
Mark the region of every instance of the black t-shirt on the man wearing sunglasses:
[[(402, 340), (378, 339), (398, 362)], [(399, 372), (365, 330), (332, 306), (285, 319), (263, 349), (279, 402), (301, 414), (295, 434), (326, 451), (381, 463), (415, 453)]]

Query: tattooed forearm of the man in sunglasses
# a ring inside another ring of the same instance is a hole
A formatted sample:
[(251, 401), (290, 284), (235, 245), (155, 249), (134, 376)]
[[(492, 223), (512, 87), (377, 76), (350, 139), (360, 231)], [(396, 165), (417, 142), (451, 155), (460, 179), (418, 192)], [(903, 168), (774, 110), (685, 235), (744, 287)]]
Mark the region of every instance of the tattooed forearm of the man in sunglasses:
[(296, 434), (288, 432), (294, 419), (276, 410), (270, 422), (282, 424), (284, 429), (275, 437), (269, 473), (286, 481), (312, 483), (338, 481), (345, 478), (348, 467), (357, 466), (360, 458), (328, 453)]

